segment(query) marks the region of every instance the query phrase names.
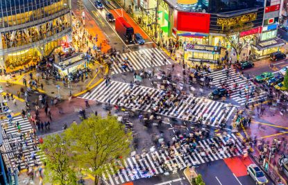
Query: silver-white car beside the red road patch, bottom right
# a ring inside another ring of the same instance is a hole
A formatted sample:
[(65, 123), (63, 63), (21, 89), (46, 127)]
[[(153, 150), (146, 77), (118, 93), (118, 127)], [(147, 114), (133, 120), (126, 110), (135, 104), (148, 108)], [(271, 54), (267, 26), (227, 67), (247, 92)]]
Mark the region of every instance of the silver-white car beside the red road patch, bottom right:
[(256, 164), (250, 164), (247, 167), (247, 174), (253, 178), (256, 184), (267, 184), (269, 182), (264, 172)]

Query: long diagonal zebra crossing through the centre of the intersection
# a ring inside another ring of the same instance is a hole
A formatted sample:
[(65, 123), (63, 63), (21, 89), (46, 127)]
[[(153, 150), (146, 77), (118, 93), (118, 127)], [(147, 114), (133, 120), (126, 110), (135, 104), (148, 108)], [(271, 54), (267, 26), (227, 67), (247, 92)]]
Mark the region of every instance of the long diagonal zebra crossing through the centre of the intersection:
[[(150, 100), (146, 102), (141, 100), (144, 96), (149, 96)], [(112, 80), (110, 85), (107, 86), (105, 82), (102, 82), (81, 98), (153, 112), (157, 107), (155, 103), (163, 96), (164, 91), (160, 89), (135, 85), (131, 88), (130, 84), (126, 82)], [(218, 127), (221, 121), (228, 121), (237, 109), (235, 106), (201, 97), (182, 97), (179, 95), (174, 99), (177, 99), (176, 103), (171, 104), (169, 108), (158, 109), (156, 112), (163, 116), (180, 118), (185, 121), (201, 119), (203, 124)]]

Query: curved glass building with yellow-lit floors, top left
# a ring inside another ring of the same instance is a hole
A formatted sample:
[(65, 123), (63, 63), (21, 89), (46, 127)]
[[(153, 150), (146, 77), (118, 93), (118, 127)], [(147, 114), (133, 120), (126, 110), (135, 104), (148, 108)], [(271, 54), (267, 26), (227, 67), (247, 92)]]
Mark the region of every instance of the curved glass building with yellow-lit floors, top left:
[(70, 0), (0, 0), (0, 65), (36, 64), (71, 40)]

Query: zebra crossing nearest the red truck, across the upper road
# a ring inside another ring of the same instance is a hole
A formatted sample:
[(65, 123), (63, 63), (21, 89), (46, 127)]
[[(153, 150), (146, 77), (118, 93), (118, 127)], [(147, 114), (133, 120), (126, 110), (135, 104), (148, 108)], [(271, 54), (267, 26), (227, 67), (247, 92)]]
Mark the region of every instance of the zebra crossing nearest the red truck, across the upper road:
[[(112, 57), (112, 74), (162, 66), (164, 65), (163, 60), (166, 57), (159, 49), (140, 49), (139, 51), (121, 53), (120, 58), (121, 62), (117, 57)], [(124, 61), (128, 61), (129, 67), (123, 67)], [(171, 64), (171, 62), (166, 60), (165, 64)]]

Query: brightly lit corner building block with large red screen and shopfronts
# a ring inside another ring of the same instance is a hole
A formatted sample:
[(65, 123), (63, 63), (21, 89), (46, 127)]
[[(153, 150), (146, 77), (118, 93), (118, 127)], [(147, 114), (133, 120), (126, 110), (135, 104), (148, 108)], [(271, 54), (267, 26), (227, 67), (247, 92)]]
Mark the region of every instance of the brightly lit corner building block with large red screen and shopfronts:
[[(125, 1), (125, 0), (121, 0)], [(134, 0), (157, 10), (161, 34), (183, 43), (186, 60), (217, 62), (221, 49), (237, 55), (227, 37), (246, 44), (251, 59), (268, 57), (285, 42), (277, 38), (283, 0)], [(148, 20), (150, 15), (142, 15)], [(147, 18), (148, 16), (148, 18)], [(147, 24), (151, 24), (147, 22)], [(164, 44), (164, 43), (163, 43)]]

